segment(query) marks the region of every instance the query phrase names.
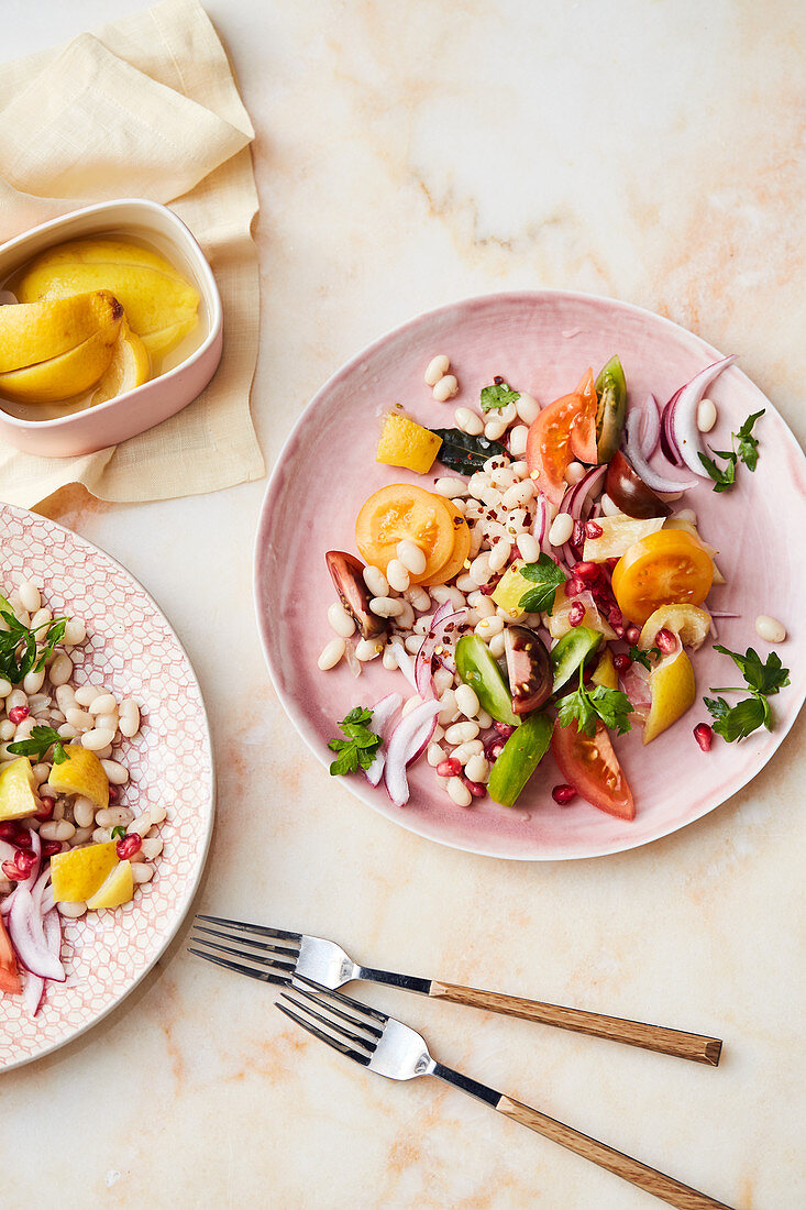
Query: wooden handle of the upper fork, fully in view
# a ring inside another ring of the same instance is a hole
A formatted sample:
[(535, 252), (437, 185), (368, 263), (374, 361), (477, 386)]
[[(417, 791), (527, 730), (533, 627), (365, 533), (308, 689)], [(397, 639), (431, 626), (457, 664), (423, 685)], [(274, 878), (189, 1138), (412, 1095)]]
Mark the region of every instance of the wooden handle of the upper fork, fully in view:
[(506, 1013), (509, 1016), (523, 1016), (529, 1021), (540, 1021), (542, 1025), (557, 1025), (560, 1030), (576, 1030), (577, 1033), (592, 1033), (597, 1038), (626, 1042), (627, 1045), (644, 1047), (645, 1050), (660, 1050), (662, 1054), (677, 1055), (678, 1059), (693, 1059), (695, 1062), (704, 1062), (710, 1067), (718, 1066), (722, 1049), (719, 1038), (684, 1033), (681, 1030), (667, 1030), (662, 1025), (627, 1021), (621, 1016), (586, 1013), (580, 1008), (543, 1004), (537, 999), (505, 996), (497, 991), (479, 991), (476, 987), (460, 987), (457, 984), (433, 980), (428, 995), (433, 996), (434, 999), (453, 1001), (455, 1004), (485, 1008), (490, 1013)]

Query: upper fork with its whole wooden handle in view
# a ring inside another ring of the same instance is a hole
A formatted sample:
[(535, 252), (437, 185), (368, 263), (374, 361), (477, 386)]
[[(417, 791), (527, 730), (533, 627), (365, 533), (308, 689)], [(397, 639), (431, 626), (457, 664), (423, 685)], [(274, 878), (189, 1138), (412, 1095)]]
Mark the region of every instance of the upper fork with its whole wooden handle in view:
[[(206, 921), (213, 927), (205, 927), (198, 921)], [(299, 974), (335, 991), (353, 979), (365, 979), (369, 983), (390, 984), (404, 991), (420, 992), (433, 999), (470, 1004), (472, 1008), (484, 1008), (491, 1013), (522, 1016), (543, 1025), (557, 1025), (563, 1030), (575, 1030), (598, 1038), (626, 1042), (632, 1047), (644, 1047), (646, 1050), (658, 1050), (662, 1054), (677, 1055), (679, 1059), (692, 1059), (712, 1067), (719, 1064), (722, 1048), (719, 1038), (684, 1033), (681, 1030), (669, 1030), (662, 1025), (628, 1021), (620, 1016), (604, 1016), (580, 1008), (545, 1004), (541, 1001), (506, 996), (496, 991), (460, 987), (457, 984), (438, 983), (436, 979), (419, 979), (414, 975), (395, 974), (391, 970), (361, 967), (335, 941), (309, 937), (305, 933), (267, 928), (265, 924), (248, 924), (243, 921), (200, 915), (194, 921), (194, 928), (196, 935), (191, 937), (191, 941), (205, 949), (189, 947), (191, 953), (207, 958), (208, 962), (217, 962), (230, 970), (237, 970), (240, 974), (263, 979), (265, 983), (288, 983), (294, 974)], [(230, 957), (225, 958), (221, 955)], [(231, 958), (240, 958), (241, 963), (232, 962)], [(251, 966), (246, 967), (243, 962)]]

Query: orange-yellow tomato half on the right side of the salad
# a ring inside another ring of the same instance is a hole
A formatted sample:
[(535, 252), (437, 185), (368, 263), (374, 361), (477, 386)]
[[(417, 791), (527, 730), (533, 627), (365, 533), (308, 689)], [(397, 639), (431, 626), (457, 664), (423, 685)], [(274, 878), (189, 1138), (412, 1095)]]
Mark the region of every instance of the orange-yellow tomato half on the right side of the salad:
[(701, 605), (713, 577), (713, 560), (696, 537), (684, 530), (660, 530), (621, 557), (612, 590), (624, 617), (643, 626), (661, 605)]

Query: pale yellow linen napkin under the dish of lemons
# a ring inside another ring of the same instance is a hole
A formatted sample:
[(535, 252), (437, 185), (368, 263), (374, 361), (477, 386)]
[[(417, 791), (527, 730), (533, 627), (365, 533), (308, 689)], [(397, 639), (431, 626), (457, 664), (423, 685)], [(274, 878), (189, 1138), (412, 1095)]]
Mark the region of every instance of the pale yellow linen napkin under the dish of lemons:
[(254, 131), (196, 0), (0, 65), (0, 242), (90, 202), (171, 203), (207, 255), (224, 304), (224, 356), (207, 390), (157, 428), (85, 457), (0, 442), (0, 499), (33, 507), (68, 483), (104, 500), (165, 500), (258, 479), (249, 415), (258, 353)]

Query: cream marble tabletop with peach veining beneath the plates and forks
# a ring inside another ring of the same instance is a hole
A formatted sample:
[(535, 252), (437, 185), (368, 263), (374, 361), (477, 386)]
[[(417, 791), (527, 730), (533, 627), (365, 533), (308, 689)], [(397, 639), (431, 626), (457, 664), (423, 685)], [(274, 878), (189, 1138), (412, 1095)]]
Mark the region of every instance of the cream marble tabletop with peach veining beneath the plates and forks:
[[(2, 54), (134, 7), (6, 0)], [(386, 328), (540, 286), (627, 299), (739, 352), (806, 437), (802, 8), (208, 8), (259, 132), (253, 409), (270, 462), (321, 382)], [(419, 840), (334, 784), (275, 698), (251, 590), (263, 489), (138, 507), (65, 490), (45, 508), (149, 587), (200, 675), (219, 808), (197, 909), (719, 1035), (714, 1071), (372, 992), (444, 1062), (733, 1206), (802, 1206), (806, 716), (727, 805), (622, 857), (507, 864)], [(2, 1077), (7, 1210), (56, 1193), (63, 1208), (654, 1204), (453, 1090), (361, 1072), (264, 986), (189, 957), (185, 937), (86, 1038)]]

